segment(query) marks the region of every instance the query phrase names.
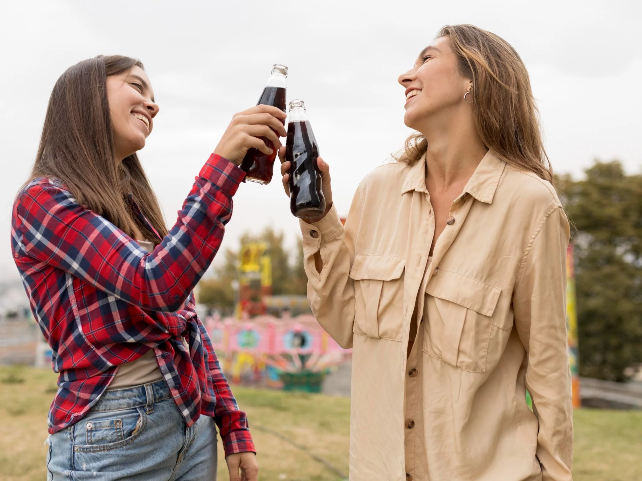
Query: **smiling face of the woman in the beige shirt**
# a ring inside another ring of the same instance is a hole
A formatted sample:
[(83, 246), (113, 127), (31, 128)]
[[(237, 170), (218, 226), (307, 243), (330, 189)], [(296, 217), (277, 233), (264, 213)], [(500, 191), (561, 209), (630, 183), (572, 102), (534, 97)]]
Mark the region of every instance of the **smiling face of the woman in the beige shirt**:
[(404, 123), (419, 131), (429, 119), (461, 109), (472, 85), (460, 72), (449, 37), (437, 38), (426, 47), (412, 69), (399, 76), (399, 83), (406, 89)]

